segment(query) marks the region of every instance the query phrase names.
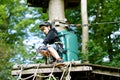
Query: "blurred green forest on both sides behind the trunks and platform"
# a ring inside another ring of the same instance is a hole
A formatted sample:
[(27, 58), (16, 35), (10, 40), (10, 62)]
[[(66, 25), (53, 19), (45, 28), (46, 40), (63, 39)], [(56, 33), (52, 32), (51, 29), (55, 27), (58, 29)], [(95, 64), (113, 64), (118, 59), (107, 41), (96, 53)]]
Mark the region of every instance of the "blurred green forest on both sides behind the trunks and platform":
[[(120, 67), (120, 0), (88, 0), (89, 42), (87, 59), (92, 64)], [(68, 22), (81, 24), (80, 5), (66, 9)], [(44, 35), (38, 25), (48, 20), (41, 8), (27, 6), (26, 0), (0, 0), (0, 80), (14, 80), (11, 76), (15, 64), (44, 63), (36, 53), (36, 45)], [(73, 28), (72, 28), (73, 29)], [(81, 53), (82, 29), (74, 27)]]

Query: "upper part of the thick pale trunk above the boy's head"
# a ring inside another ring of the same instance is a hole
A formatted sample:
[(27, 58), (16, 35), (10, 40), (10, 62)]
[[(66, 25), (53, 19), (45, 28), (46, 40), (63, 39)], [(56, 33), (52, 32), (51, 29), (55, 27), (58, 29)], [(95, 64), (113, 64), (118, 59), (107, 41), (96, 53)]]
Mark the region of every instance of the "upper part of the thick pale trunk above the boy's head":
[[(64, 0), (50, 0), (49, 1), (49, 20), (64, 20)], [(57, 31), (61, 31), (63, 27), (56, 27)]]

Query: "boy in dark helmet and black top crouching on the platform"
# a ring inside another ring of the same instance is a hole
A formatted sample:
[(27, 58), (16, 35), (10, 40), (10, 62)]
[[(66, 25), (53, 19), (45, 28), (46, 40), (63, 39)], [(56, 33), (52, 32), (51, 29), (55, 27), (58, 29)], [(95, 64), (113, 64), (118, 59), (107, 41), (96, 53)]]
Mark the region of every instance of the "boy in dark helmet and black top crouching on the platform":
[(43, 22), (39, 25), (41, 31), (43, 31), (46, 35), (42, 46), (40, 47), (40, 53), (48, 56), (52, 55), (53, 58), (56, 59), (56, 62), (63, 62), (57, 52), (57, 45), (55, 43), (60, 42), (58, 37), (58, 33), (55, 28), (52, 28), (52, 25), (49, 22)]

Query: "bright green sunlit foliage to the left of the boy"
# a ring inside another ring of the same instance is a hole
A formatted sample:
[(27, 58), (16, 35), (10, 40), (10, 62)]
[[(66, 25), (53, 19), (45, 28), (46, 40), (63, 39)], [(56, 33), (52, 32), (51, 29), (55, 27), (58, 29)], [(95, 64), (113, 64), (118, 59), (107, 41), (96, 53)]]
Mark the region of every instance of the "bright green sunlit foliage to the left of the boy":
[(41, 9), (28, 8), (24, 0), (0, 0), (0, 80), (13, 80), (12, 66), (27, 63), (35, 55), (27, 51), (23, 40), (30, 32), (38, 35), (40, 18), (47, 19), (47, 15)]

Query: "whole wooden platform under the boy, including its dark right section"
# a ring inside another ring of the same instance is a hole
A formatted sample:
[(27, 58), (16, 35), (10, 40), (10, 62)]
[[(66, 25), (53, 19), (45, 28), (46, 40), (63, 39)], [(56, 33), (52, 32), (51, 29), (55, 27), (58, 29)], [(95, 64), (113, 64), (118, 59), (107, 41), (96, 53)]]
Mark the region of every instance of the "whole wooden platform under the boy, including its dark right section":
[(95, 64), (81, 64), (79, 61), (64, 62), (64, 64), (66, 66), (61, 67), (55, 67), (54, 64), (14, 65), (11, 74), (13, 76), (21, 75), (25, 77), (35, 73), (48, 75), (52, 72), (55, 76), (58, 76), (61, 75), (65, 69), (69, 69), (71, 80), (120, 80), (120, 68)]

